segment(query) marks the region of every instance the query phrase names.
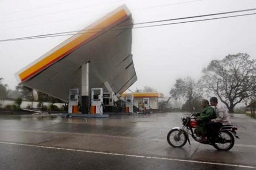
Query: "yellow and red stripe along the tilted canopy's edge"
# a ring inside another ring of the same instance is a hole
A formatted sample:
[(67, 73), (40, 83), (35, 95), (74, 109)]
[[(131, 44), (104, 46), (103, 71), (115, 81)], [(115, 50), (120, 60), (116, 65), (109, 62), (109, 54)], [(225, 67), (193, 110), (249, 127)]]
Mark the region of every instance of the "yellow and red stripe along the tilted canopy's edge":
[(85, 33), (79, 35), (74, 40), (68, 42), (64, 46), (60, 47), (56, 51), (54, 51), (52, 54), (44, 57), (39, 62), (33, 64), (26, 70), (23, 70), (20, 72), (19, 78), (21, 82), (27, 80), (28, 78), (34, 76), (36, 73), (40, 72), (41, 70), (44, 70), (46, 67), (50, 66), (52, 63), (60, 60), (61, 58), (67, 56), (69, 53), (83, 45), (84, 43), (90, 41), (93, 37), (95, 37), (97, 34), (100, 33), (104, 28), (113, 26), (118, 21), (124, 19), (127, 17), (127, 13), (124, 9), (117, 11), (115, 14), (111, 15), (110, 17), (106, 18), (99, 24), (96, 24), (90, 30), (86, 31)]

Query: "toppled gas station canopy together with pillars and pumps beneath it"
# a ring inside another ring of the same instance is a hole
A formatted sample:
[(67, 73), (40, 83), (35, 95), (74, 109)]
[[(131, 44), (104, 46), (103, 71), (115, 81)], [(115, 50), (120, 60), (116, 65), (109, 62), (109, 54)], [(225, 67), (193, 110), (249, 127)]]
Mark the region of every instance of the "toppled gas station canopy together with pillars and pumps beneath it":
[(132, 14), (125, 5), (60, 43), (15, 74), (20, 84), (68, 102), (68, 113), (124, 112), (136, 80)]

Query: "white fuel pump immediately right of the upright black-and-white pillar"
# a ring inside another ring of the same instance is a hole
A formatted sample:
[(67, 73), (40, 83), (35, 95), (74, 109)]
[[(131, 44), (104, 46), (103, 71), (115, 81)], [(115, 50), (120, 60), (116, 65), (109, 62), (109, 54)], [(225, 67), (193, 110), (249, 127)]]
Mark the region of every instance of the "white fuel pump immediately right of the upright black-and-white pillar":
[(103, 88), (92, 88), (92, 114), (103, 114)]

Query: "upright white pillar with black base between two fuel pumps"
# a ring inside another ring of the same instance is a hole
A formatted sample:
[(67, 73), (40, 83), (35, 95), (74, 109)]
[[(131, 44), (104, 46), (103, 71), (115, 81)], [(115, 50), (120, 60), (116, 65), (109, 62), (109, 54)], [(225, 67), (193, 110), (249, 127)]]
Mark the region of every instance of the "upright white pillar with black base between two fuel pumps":
[(89, 113), (89, 63), (84, 63), (82, 65), (82, 91), (81, 91), (81, 106), (82, 106), (82, 114)]

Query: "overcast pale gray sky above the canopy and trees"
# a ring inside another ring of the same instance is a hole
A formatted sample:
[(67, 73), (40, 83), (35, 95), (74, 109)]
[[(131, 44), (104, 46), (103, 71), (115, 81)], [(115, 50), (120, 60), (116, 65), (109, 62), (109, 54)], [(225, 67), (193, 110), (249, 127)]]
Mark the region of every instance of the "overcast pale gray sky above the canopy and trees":
[[(255, 0), (1, 0), (0, 39), (83, 29), (122, 4), (134, 23), (256, 8)], [(130, 89), (148, 85), (166, 96), (176, 78), (197, 80), (212, 59), (239, 52), (256, 58), (255, 21), (252, 15), (134, 29), (138, 81)], [(0, 42), (0, 77), (14, 89), (15, 72), (67, 38)]]

